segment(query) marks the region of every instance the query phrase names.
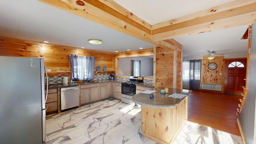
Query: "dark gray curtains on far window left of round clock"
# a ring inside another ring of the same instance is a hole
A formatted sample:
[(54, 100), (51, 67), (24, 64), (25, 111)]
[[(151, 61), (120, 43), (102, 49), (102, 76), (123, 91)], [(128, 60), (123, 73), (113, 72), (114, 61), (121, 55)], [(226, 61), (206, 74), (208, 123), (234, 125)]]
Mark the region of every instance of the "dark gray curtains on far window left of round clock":
[(201, 82), (202, 60), (184, 61), (182, 83), (184, 89), (199, 90)]

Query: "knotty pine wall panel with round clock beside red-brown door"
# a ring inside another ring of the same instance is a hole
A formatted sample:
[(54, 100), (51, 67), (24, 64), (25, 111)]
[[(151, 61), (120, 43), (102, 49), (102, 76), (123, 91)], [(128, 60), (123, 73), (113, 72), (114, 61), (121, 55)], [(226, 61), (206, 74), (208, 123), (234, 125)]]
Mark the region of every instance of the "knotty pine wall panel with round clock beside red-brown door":
[[(224, 56), (216, 56), (213, 60), (208, 60), (208, 56), (203, 56), (202, 60), (202, 75), (201, 83), (212, 83), (212, 84), (225, 84), (225, 66), (224, 66)], [(215, 62), (218, 67), (215, 70), (209, 70), (208, 64), (210, 62)], [(222, 75), (220, 75), (222, 73)]]

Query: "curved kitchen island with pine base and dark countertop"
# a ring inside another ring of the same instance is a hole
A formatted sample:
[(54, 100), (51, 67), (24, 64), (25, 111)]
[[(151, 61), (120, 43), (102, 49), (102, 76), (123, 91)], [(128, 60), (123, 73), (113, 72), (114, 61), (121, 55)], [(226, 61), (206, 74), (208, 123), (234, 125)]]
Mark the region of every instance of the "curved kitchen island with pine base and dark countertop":
[(192, 91), (169, 88), (168, 93), (161, 94), (161, 89), (164, 88), (151, 91), (154, 98), (141, 92), (132, 96), (132, 101), (141, 105), (143, 136), (160, 144), (170, 144), (188, 120), (187, 96)]

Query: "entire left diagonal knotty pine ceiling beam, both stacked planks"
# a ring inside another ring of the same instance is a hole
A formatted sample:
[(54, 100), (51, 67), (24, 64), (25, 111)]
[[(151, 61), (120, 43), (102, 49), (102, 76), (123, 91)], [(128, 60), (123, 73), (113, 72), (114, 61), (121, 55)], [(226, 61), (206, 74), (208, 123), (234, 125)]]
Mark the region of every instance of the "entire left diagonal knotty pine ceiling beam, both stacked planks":
[[(39, 0), (61, 10), (118, 30), (140, 40), (179, 50), (178, 45), (152, 40), (151, 25), (138, 18), (113, 0)], [(176, 42), (172, 40), (172, 42)], [(178, 43), (178, 42), (176, 42)]]

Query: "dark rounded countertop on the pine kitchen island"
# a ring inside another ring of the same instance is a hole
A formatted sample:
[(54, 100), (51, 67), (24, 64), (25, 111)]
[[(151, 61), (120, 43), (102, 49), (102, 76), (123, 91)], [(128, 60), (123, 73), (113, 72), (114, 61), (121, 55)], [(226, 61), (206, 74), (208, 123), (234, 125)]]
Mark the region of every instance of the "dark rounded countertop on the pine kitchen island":
[[(150, 98), (150, 94), (139, 93), (132, 96), (132, 101), (142, 106), (154, 107), (154, 108), (167, 108), (179, 104), (192, 90), (169, 88), (169, 92), (161, 94), (160, 90), (164, 88), (154, 88), (157, 92), (154, 92), (154, 98)], [(183, 98), (168, 97), (171, 94), (184, 94)]]

